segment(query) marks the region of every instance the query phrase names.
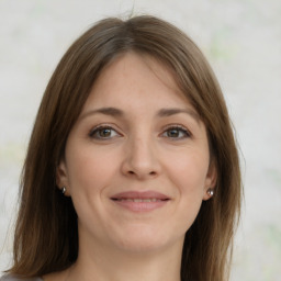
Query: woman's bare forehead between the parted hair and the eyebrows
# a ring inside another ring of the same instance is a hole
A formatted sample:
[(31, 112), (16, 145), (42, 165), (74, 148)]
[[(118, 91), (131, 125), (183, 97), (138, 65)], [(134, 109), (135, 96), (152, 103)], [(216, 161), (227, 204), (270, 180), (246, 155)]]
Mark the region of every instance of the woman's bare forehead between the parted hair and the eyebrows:
[(180, 91), (172, 71), (161, 61), (145, 54), (133, 52), (112, 60), (99, 75), (87, 104), (97, 106), (125, 103), (153, 103), (159, 105), (190, 105)]

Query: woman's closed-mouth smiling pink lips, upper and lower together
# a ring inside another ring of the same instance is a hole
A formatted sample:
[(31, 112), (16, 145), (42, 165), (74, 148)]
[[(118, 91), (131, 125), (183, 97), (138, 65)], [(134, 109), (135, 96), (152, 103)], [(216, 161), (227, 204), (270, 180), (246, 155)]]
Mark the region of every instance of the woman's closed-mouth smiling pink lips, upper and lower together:
[(111, 200), (133, 212), (148, 212), (166, 205), (170, 198), (156, 191), (128, 191), (114, 194)]

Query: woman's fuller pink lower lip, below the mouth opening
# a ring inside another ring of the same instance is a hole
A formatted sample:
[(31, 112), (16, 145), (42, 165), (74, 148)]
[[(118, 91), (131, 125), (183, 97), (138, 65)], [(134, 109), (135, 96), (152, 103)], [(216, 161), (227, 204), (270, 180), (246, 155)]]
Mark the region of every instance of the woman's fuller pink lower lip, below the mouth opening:
[(113, 202), (124, 209), (127, 209), (132, 212), (149, 212), (159, 207), (165, 206), (169, 200), (161, 200), (156, 202), (133, 202), (125, 200), (113, 200)]

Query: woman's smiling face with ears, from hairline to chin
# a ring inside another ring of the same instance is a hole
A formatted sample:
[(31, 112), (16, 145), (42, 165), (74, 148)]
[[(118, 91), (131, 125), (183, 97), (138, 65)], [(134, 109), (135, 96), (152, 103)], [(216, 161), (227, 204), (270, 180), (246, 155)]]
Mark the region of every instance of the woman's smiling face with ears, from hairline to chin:
[(215, 168), (204, 124), (165, 66), (128, 53), (100, 75), (57, 169), (79, 243), (130, 251), (182, 247)]

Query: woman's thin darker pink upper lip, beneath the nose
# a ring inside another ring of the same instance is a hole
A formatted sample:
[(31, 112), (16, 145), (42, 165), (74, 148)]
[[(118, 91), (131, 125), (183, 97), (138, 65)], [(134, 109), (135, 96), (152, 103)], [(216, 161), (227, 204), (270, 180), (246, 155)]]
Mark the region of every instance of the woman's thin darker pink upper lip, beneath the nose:
[(164, 193), (157, 191), (125, 191), (120, 192), (111, 196), (112, 200), (121, 199), (158, 199), (158, 200), (169, 200), (170, 198)]

